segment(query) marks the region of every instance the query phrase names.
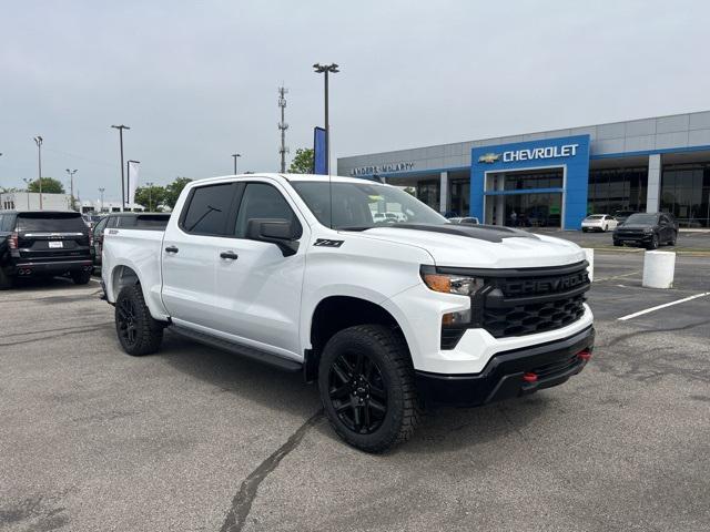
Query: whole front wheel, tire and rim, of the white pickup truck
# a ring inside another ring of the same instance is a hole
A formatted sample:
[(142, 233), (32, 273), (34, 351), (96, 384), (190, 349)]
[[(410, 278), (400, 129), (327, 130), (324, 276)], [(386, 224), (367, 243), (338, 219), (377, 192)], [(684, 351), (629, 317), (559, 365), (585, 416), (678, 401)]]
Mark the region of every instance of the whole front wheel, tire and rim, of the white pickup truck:
[(404, 338), (382, 325), (343, 329), (326, 344), (318, 389), (337, 434), (366, 452), (409, 439), (422, 417)]

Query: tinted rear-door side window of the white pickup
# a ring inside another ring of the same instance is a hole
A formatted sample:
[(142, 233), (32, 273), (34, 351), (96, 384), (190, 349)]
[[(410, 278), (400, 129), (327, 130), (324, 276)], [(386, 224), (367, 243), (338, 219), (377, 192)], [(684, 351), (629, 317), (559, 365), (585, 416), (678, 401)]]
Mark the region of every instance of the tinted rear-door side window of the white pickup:
[(193, 188), (190, 204), (180, 224), (182, 229), (197, 235), (230, 235), (226, 222), (235, 190), (234, 183)]

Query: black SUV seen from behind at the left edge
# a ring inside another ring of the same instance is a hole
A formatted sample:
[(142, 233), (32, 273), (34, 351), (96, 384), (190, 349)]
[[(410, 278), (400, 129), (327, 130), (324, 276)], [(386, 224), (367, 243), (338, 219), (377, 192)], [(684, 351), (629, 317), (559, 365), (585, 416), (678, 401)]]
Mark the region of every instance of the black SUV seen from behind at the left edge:
[(0, 212), (0, 289), (20, 277), (70, 275), (91, 279), (91, 231), (71, 211)]

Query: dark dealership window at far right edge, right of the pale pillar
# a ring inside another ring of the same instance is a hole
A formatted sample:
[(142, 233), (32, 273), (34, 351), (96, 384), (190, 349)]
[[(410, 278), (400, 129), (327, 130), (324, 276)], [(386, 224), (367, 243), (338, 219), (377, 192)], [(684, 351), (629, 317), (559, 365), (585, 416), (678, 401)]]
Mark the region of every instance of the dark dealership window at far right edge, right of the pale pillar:
[(710, 227), (710, 162), (666, 164), (661, 176), (661, 211), (681, 227)]

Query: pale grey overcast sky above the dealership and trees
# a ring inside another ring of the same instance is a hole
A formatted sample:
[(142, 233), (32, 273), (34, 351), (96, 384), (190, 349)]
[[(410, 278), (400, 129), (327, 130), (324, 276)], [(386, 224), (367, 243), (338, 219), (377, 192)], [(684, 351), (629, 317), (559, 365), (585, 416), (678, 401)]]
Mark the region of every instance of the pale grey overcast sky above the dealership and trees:
[(118, 132), (143, 181), (278, 168), (323, 121), (344, 155), (710, 109), (710, 2), (3, 2), (0, 186), (78, 168), (120, 197)]

